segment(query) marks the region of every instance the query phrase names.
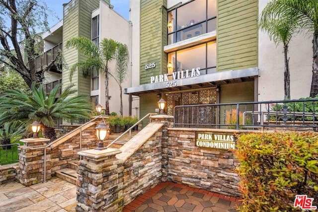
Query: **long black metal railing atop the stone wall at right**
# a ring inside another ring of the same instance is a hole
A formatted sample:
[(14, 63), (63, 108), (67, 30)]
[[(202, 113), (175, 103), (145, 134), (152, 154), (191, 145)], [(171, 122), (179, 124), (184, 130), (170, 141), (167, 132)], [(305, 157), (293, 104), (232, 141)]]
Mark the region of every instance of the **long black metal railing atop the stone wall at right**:
[(318, 99), (183, 105), (174, 127), (218, 129), (312, 128), (318, 130)]

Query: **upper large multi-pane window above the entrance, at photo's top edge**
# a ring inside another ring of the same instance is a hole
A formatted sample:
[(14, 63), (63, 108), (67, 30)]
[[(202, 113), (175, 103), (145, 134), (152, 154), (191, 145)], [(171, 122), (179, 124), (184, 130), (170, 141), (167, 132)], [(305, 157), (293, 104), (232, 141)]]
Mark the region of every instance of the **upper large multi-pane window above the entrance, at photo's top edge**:
[(168, 45), (216, 30), (216, 0), (194, 0), (168, 12)]

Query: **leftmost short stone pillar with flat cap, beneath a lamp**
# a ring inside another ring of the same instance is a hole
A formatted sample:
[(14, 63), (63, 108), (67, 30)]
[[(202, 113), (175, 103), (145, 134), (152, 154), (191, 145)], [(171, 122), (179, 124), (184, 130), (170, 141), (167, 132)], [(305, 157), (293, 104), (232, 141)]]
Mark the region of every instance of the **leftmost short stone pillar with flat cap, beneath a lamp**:
[[(49, 139), (21, 139), (19, 146), (18, 180), (24, 186), (30, 186), (44, 181), (44, 147)], [(46, 152), (46, 180), (51, 179), (50, 148)]]

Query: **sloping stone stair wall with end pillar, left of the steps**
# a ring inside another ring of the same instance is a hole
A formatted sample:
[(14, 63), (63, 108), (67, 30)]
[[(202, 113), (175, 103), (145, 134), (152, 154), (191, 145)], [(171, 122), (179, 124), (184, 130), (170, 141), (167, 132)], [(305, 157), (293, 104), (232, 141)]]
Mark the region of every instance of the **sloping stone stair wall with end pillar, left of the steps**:
[[(101, 122), (101, 119), (95, 120), (92, 126), (74, 136), (66, 138), (66, 141), (56, 147), (46, 148), (46, 160), (44, 161), (44, 146), (49, 140), (46, 139), (24, 139), (24, 145), (19, 146), (19, 170), (17, 170), (17, 180), (30, 186), (44, 180), (44, 166), (46, 167), (46, 180), (54, 176), (56, 170), (68, 167), (68, 162), (79, 159), (77, 152), (91, 149), (97, 146), (95, 135), (95, 126)], [(72, 128), (77, 128), (74, 126)], [(70, 129), (69, 129), (70, 130)], [(46, 163), (46, 165), (44, 165)]]

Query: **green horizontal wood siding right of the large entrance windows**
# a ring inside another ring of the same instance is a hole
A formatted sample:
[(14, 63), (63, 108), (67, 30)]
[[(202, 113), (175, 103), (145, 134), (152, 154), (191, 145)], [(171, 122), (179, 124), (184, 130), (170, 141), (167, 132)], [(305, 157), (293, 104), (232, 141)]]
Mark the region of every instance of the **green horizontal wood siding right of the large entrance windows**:
[(257, 0), (218, 0), (217, 71), (258, 66)]

